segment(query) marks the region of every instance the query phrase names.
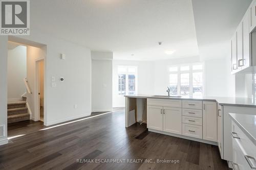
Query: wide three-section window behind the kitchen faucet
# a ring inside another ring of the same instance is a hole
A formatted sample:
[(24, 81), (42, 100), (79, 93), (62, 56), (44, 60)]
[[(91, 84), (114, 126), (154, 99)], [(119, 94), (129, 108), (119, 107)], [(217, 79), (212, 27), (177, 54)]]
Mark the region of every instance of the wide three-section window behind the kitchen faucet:
[(170, 94), (203, 95), (203, 63), (171, 66), (168, 70)]

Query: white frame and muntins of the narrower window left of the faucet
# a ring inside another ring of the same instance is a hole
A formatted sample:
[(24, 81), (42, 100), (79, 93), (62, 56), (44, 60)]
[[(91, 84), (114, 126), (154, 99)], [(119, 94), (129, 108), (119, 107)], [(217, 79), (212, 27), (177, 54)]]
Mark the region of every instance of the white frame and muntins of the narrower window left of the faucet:
[[(126, 68), (126, 71), (119, 71), (119, 67)], [(129, 68), (135, 68), (135, 72), (129, 72)], [(119, 75), (125, 75), (125, 94), (124, 95), (130, 95), (129, 94), (129, 75), (134, 74), (135, 75), (135, 94), (138, 93), (138, 66), (137, 65), (118, 65), (117, 66), (117, 76)], [(118, 78), (119, 79), (119, 78)], [(117, 82), (117, 95), (124, 96), (123, 94), (119, 94), (119, 80)]]

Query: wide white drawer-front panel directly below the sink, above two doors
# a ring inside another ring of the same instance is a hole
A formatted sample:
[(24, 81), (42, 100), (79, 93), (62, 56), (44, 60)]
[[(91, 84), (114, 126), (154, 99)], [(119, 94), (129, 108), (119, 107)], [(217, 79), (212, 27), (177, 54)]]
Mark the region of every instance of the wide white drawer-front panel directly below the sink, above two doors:
[(166, 106), (166, 107), (178, 107), (181, 108), (181, 100), (174, 99), (147, 99), (147, 105), (151, 106)]

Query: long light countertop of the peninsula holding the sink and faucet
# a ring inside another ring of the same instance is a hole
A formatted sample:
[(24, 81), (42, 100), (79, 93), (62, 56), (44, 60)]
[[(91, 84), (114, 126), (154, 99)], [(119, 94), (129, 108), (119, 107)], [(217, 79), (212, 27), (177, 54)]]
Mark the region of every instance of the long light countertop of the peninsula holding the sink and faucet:
[(256, 107), (255, 100), (250, 98), (229, 98), (229, 97), (218, 97), (218, 96), (205, 96), (205, 97), (195, 97), (195, 96), (182, 96), (181, 98), (166, 98), (153, 96), (155, 94), (136, 94), (136, 95), (124, 95), (128, 98), (155, 98), (155, 99), (180, 99), (180, 100), (201, 100), (201, 101), (216, 101), (220, 105), (227, 106), (240, 106), (240, 107)]

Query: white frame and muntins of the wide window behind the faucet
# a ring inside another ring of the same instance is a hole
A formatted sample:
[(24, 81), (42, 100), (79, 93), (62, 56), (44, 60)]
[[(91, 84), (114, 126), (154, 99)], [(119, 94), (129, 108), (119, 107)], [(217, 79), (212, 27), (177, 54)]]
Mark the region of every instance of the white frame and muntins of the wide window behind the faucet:
[[(202, 69), (193, 70), (193, 65), (202, 65)], [(189, 66), (189, 70), (181, 70), (182, 66)], [(170, 71), (170, 67), (177, 67), (177, 71)], [(203, 74), (203, 90), (202, 95), (205, 95), (205, 63), (204, 62), (196, 62), (196, 63), (182, 63), (175, 65), (168, 65), (168, 87), (170, 85), (170, 74), (177, 74), (178, 83), (177, 83), (177, 95), (181, 95), (181, 74), (189, 73), (189, 96), (193, 96), (193, 73), (194, 72), (202, 72)]]

